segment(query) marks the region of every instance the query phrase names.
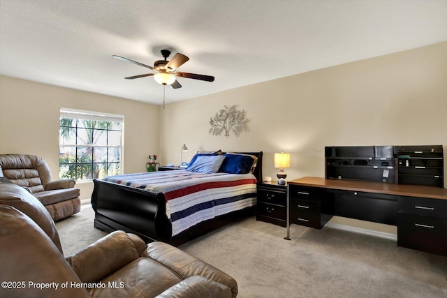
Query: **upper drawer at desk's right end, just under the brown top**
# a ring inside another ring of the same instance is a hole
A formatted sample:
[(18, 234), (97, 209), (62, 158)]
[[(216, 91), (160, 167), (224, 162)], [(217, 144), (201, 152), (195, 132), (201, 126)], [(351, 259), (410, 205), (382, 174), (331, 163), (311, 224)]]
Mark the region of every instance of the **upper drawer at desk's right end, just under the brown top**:
[(447, 218), (447, 200), (397, 197), (399, 213)]

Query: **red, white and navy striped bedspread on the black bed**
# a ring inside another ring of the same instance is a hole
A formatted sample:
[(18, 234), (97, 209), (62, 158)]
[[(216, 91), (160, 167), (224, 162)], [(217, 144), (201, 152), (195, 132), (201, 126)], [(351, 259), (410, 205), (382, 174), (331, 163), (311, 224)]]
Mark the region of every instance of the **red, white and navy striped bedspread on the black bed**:
[(202, 221), (256, 205), (253, 174), (175, 170), (123, 174), (103, 180), (163, 193), (173, 236)]

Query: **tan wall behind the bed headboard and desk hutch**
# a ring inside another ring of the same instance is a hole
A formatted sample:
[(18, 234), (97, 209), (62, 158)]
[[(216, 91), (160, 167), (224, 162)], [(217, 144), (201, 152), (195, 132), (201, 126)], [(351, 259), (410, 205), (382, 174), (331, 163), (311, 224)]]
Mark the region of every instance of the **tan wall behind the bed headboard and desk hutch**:
[[(273, 154), (284, 150), (291, 153), (288, 179), (295, 179), (324, 176), (325, 146), (443, 144), (447, 150), (446, 53), (447, 43), (439, 43), (167, 105), (160, 110), (160, 155), (178, 164), (183, 143), (184, 160), (197, 150), (264, 151), (264, 175), (275, 177)], [(210, 117), (235, 104), (247, 111), (250, 132), (210, 135)], [(395, 233), (395, 227), (332, 221)]]

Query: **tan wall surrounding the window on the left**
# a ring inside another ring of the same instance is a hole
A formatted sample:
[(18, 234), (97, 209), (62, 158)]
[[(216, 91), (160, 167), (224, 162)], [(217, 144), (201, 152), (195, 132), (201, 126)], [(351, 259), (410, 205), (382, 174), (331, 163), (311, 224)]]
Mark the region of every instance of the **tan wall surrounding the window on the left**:
[[(156, 105), (0, 76), (0, 154), (41, 156), (56, 179), (61, 107), (124, 115), (125, 173), (145, 171), (147, 156), (159, 149)], [(92, 182), (77, 187), (90, 198)]]

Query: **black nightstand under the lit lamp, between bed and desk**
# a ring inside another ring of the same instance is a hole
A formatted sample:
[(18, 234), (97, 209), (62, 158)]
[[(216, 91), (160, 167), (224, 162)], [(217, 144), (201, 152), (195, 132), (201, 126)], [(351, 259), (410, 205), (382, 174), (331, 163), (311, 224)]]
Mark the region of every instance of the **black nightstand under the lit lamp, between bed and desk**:
[(265, 221), (286, 228), (287, 184), (278, 181), (258, 183), (256, 221)]

